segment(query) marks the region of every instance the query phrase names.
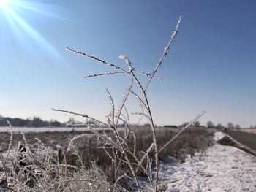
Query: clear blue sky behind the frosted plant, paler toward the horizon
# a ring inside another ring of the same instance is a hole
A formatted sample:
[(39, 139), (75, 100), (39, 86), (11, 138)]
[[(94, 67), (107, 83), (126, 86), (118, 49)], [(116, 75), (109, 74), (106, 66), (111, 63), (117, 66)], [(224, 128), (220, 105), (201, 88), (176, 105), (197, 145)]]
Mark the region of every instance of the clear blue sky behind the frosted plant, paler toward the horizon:
[(83, 79), (110, 69), (64, 47), (118, 65), (125, 54), (151, 72), (183, 15), (158, 73), (164, 81), (148, 89), (155, 123), (181, 124), (206, 110), (202, 123), (256, 125), (256, 1), (1, 1), (2, 116), (69, 119), (55, 107), (105, 120), (105, 88), (118, 106), (127, 77)]

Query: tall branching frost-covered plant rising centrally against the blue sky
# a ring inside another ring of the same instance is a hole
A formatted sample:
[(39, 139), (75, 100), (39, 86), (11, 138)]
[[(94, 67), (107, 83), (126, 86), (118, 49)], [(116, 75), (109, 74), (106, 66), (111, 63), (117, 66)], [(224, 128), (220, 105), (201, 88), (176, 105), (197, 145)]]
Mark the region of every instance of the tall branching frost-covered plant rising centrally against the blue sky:
[[(91, 129), (91, 131), (94, 132), (100, 139), (104, 141), (104, 145), (102, 145), (102, 150), (105, 150), (105, 153), (108, 154), (109, 158), (113, 161), (114, 166), (114, 185), (117, 185), (118, 182), (122, 178), (126, 178), (129, 180), (129, 185), (135, 185), (138, 188), (138, 191), (143, 191), (143, 183), (140, 182), (138, 179), (138, 171), (144, 172), (146, 177), (148, 177), (149, 183), (151, 183), (151, 187), (153, 191), (157, 191), (157, 185), (159, 180), (159, 153), (167, 147), (167, 145), (170, 145), (171, 142), (173, 142), (178, 135), (180, 135), (186, 128), (188, 128), (192, 123), (194, 123), (198, 118), (200, 118), (201, 115), (203, 115), (204, 112), (201, 112), (200, 115), (197, 115), (197, 117), (192, 120), (190, 123), (187, 124), (187, 126), (184, 126), (184, 128), (181, 128), (180, 131), (176, 134), (175, 137), (170, 139), (168, 142), (165, 143), (161, 148), (157, 145), (157, 134), (156, 134), (156, 128), (154, 126), (154, 118), (152, 116), (151, 112), (151, 106), (148, 102), (148, 95), (147, 90), (149, 85), (151, 84), (151, 80), (153, 78), (161, 79), (157, 77), (157, 72), (160, 66), (162, 66), (162, 62), (164, 58), (167, 56), (168, 51), (170, 50), (170, 45), (173, 42), (173, 39), (178, 34), (178, 28), (181, 24), (181, 17), (178, 18), (178, 23), (176, 25), (176, 29), (173, 31), (173, 34), (170, 37), (169, 42), (167, 42), (167, 46), (165, 47), (164, 52), (162, 53), (162, 56), (159, 58), (159, 61), (157, 62), (156, 66), (154, 67), (154, 70), (151, 73), (147, 72), (141, 72), (138, 69), (135, 68), (135, 66), (132, 64), (132, 62), (129, 60), (129, 58), (126, 55), (120, 55), (119, 58), (123, 59), (125, 63), (127, 64), (127, 68), (124, 68), (123, 66), (118, 66), (116, 64), (113, 64), (111, 62), (105, 61), (104, 59), (97, 58), (93, 55), (88, 55), (86, 53), (82, 53), (78, 50), (74, 50), (72, 48), (66, 47), (67, 50), (71, 51), (72, 53), (77, 53), (78, 55), (85, 56), (86, 58), (90, 58), (94, 61), (97, 61), (99, 64), (104, 64), (107, 66), (110, 66), (111, 69), (113, 69), (112, 72), (105, 72), (105, 73), (99, 73), (99, 74), (91, 74), (86, 76), (86, 78), (89, 77), (99, 77), (99, 76), (105, 76), (105, 75), (114, 75), (114, 74), (125, 74), (128, 75), (130, 78), (130, 82), (127, 88), (127, 93), (124, 94), (124, 98), (121, 101), (120, 107), (116, 109), (116, 104), (113, 101), (113, 97), (110, 94), (110, 91), (108, 89), (106, 90), (106, 93), (108, 95), (108, 98), (110, 99), (111, 104), (111, 112), (107, 116), (106, 122), (103, 122), (102, 120), (98, 120), (97, 118), (93, 118), (90, 115), (87, 114), (80, 114), (78, 112), (71, 112), (69, 110), (56, 110), (55, 111), (61, 111), (61, 112), (68, 112), (73, 115), (79, 115), (83, 118), (87, 118), (89, 120), (94, 120), (94, 122), (97, 122), (99, 124), (99, 127), (102, 127), (102, 131), (96, 131), (94, 128)], [(148, 80), (146, 82), (146, 85), (143, 85), (143, 83), (139, 79), (139, 75), (145, 75), (148, 77)], [(135, 91), (134, 85), (138, 85), (139, 92)], [(138, 99), (138, 102), (141, 107), (141, 112), (135, 112), (132, 113), (132, 115), (140, 115), (140, 120), (142, 118), (146, 118), (148, 120), (148, 123), (151, 126), (151, 140), (152, 143), (150, 146), (148, 146), (148, 149), (143, 152), (136, 151), (136, 138), (135, 134), (133, 134), (132, 129), (135, 128), (134, 126), (130, 126), (129, 124), (129, 112), (127, 111), (127, 99), (129, 96), (135, 96), (136, 99)], [(125, 131), (124, 134), (121, 134), (121, 131), (118, 131), (118, 123), (124, 123), (125, 125)], [(104, 128), (110, 128), (113, 130), (113, 133), (115, 134), (115, 137), (110, 137), (109, 134), (106, 134), (104, 131)], [(134, 138), (134, 146), (129, 146), (127, 144), (127, 141), (130, 137)], [(149, 157), (149, 153), (154, 151), (154, 159)], [(152, 174), (152, 164), (155, 164), (155, 173)], [(120, 166), (127, 165), (131, 171), (131, 175), (124, 174), (124, 172), (120, 172)]]

